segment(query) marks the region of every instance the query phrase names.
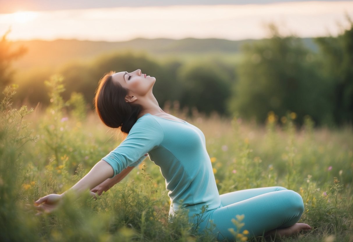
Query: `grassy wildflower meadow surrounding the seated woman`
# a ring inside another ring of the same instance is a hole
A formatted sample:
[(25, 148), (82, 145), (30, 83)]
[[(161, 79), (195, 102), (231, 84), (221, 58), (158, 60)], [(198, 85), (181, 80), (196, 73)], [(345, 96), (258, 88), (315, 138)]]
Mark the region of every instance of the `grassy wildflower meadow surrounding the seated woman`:
[[(164, 179), (148, 159), (98, 199), (88, 193), (67, 198), (55, 212), (34, 216), (26, 204), (64, 192), (122, 140), (84, 111), (80, 96), (69, 106), (60, 84), (47, 85), (47, 109), (16, 110), (16, 86), (5, 90), (1, 103), (1, 241), (215, 241), (196, 234), (182, 213), (167, 219)], [(187, 117), (177, 103), (164, 110), (204, 132), (220, 194), (283, 186), (303, 197), (300, 222), (313, 230), (282, 241), (353, 241), (352, 127), (314, 128), (310, 117), (299, 127), (295, 113), (269, 113), (263, 126), (197, 111)], [(246, 241), (246, 235), (235, 237)]]

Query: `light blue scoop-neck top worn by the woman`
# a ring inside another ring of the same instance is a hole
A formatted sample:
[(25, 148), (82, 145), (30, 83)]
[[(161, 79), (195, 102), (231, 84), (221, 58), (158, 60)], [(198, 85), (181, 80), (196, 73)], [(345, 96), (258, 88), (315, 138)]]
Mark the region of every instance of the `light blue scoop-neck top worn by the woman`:
[(114, 176), (128, 166), (136, 166), (148, 153), (166, 179), (171, 199), (169, 213), (179, 207), (189, 214), (221, 205), (210, 157), (202, 131), (185, 121), (173, 121), (145, 114), (132, 126), (126, 139), (102, 160)]

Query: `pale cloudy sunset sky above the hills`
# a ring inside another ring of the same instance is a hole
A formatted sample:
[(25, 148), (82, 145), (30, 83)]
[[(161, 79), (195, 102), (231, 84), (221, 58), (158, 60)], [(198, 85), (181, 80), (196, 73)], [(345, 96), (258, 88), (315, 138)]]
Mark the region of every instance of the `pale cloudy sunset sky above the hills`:
[(283, 35), (336, 36), (353, 20), (353, 1), (0, 0), (0, 35), (10, 40), (133, 38), (260, 39), (275, 23)]

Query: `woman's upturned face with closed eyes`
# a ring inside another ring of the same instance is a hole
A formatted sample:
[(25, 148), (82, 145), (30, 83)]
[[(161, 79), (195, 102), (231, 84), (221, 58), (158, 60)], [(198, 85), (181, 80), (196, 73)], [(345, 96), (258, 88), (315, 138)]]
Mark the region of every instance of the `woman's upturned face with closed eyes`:
[(113, 74), (114, 82), (129, 90), (128, 95), (143, 97), (150, 91), (156, 81), (156, 78), (143, 74), (140, 69), (134, 72), (118, 72)]

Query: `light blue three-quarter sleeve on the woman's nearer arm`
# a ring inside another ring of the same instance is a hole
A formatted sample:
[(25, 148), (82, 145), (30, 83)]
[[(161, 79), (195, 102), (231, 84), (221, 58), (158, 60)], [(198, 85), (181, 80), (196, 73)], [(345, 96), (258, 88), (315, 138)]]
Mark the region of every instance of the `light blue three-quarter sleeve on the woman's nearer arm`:
[(126, 139), (102, 160), (112, 166), (114, 177), (128, 166), (142, 162), (146, 153), (162, 143), (163, 136), (160, 124), (150, 115), (144, 115), (132, 126)]

